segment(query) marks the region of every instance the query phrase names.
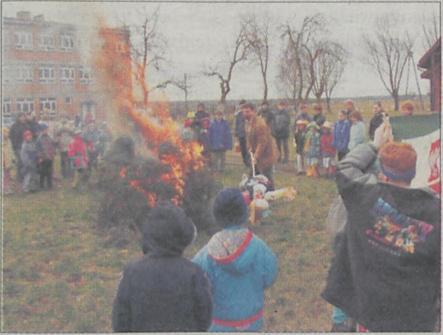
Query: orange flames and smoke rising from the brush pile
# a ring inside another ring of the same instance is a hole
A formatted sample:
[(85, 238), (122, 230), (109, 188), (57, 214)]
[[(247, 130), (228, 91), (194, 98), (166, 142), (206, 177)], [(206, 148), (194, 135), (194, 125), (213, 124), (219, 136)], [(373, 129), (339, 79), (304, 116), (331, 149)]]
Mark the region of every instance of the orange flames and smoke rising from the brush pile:
[[(135, 66), (132, 66), (129, 32), (118, 28), (107, 28), (102, 21), (99, 25), (98, 35), (101, 47), (98, 48), (93, 59), (93, 68), (97, 74), (100, 89), (105, 90), (109, 95), (105, 108), (108, 120), (111, 121), (111, 130), (114, 134), (131, 134), (134, 133), (135, 126), (136, 131), (141, 135), (142, 146), (145, 146), (145, 149), (138, 149), (145, 150), (148, 154), (156, 154), (160, 162), (169, 167), (169, 171), (161, 176), (161, 180), (173, 186), (176, 195), (171, 200), (177, 205), (181, 204), (187, 174), (204, 165), (201, 156), (203, 148), (196, 141), (182, 140), (177, 124), (169, 117), (166, 104), (156, 104), (151, 108), (155, 110), (157, 118), (148, 114), (147, 110), (152, 106), (147, 100), (148, 86), (145, 81), (145, 65), (135, 63)], [(134, 93), (133, 75), (136, 88), (141, 90), (141, 99), (139, 100), (142, 108), (137, 108), (140, 103)], [(167, 142), (177, 150), (172, 153), (162, 152), (161, 146)], [(120, 170), (119, 175), (122, 179), (127, 178), (126, 172), (127, 168)], [(153, 207), (157, 201), (157, 195), (142, 187), (146, 182), (150, 184), (153, 180), (128, 180), (129, 186), (142, 192), (146, 196), (149, 206)]]

